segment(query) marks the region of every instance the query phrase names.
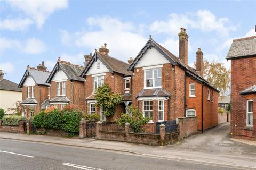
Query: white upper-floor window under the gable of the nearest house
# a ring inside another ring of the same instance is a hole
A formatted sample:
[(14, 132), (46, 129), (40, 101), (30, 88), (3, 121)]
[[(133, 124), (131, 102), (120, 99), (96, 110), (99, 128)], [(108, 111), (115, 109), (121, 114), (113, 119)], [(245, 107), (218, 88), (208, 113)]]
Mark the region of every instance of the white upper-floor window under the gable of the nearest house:
[(162, 69), (145, 70), (145, 88), (161, 88)]

